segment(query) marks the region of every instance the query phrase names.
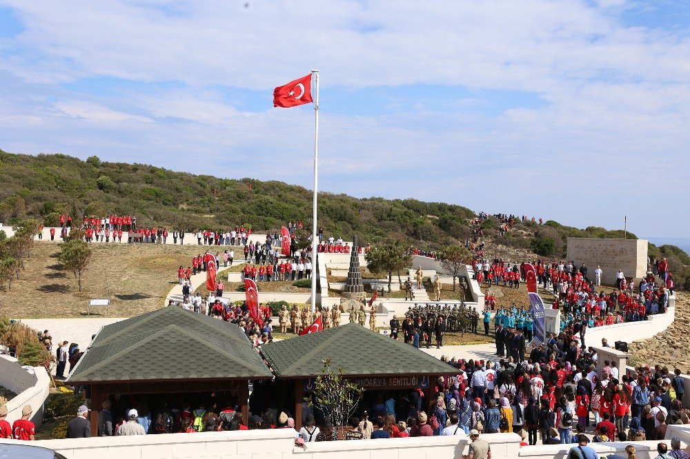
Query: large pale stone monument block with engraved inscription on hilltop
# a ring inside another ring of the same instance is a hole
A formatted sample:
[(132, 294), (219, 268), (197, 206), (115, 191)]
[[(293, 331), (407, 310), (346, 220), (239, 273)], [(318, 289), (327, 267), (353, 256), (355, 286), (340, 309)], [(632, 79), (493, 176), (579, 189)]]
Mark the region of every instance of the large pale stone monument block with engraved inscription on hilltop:
[(602, 283), (615, 285), (615, 274), (623, 270), (626, 278), (647, 274), (648, 242), (644, 239), (568, 238), (568, 261), (587, 267), (587, 277), (594, 279), (597, 266), (602, 269)]

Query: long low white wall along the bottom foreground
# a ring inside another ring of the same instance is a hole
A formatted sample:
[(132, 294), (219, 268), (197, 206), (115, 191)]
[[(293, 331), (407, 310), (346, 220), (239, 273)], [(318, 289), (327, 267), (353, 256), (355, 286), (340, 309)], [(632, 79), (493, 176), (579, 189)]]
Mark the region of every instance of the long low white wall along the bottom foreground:
[[(468, 438), (439, 436), (307, 443), (294, 445), (293, 429), (172, 433), (124, 437), (39, 440), (68, 459), (440, 459), (460, 458)], [(520, 437), (515, 433), (482, 435), (491, 444), (493, 459), (517, 457)], [(0, 442), (21, 443), (19, 440)]]

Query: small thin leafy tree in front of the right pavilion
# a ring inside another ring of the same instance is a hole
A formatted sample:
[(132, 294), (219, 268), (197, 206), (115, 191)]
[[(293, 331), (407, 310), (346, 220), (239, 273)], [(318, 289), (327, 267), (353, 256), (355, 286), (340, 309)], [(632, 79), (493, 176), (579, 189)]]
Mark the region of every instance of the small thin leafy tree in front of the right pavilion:
[(304, 399), (309, 406), (317, 407), (324, 417), (331, 420), (334, 427), (348, 425), (347, 422), (355, 413), (364, 389), (343, 376), (344, 370), (337, 373), (331, 369), (331, 359), (324, 360), (323, 375), (314, 381), (314, 392)]

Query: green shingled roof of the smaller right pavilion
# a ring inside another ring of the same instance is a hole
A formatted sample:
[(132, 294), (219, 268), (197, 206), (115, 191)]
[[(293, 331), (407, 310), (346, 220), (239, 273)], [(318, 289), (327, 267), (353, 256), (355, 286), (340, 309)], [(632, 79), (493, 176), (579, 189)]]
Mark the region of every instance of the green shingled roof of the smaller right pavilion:
[(319, 376), (323, 361), (352, 376), (447, 374), (446, 363), (398, 340), (355, 323), (262, 346), (276, 376)]

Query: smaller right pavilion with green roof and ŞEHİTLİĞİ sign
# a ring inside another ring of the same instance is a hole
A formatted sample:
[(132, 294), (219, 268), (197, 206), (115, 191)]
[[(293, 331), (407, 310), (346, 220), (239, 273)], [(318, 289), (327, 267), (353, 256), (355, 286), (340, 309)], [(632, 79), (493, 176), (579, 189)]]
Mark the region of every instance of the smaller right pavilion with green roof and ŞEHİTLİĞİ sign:
[(435, 378), (453, 373), (424, 351), (356, 323), (268, 343), (261, 352), (278, 380), (294, 380), (297, 424), (304, 394), (323, 374), (324, 360), (330, 359), (332, 369), (342, 368), (346, 378), (364, 389), (422, 389), (427, 400)]

